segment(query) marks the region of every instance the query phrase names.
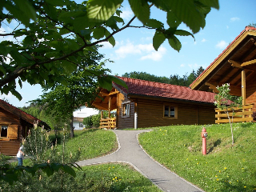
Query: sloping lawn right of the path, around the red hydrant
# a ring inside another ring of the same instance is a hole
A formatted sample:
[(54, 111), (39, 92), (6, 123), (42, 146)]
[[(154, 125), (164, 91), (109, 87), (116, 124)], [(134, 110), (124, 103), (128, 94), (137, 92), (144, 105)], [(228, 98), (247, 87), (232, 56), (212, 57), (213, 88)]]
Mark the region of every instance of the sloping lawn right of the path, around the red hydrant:
[(256, 191), (256, 123), (205, 126), (207, 154), (202, 155), (202, 126), (166, 126), (139, 135), (155, 160), (206, 191)]

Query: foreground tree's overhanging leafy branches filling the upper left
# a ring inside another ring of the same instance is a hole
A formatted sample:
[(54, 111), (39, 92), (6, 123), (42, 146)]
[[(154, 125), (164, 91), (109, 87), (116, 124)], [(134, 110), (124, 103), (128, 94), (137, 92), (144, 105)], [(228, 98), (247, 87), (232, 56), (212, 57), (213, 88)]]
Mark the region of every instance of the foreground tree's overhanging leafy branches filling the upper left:
[[(120, 17), (123, 0), (89, 0), (77, 3), (71, 0), (2, 0), (0, 27), (16, 24), (12, 32), (0, 32), (8, 37), (0, 42), (0, 91), (22, 96), (16, 83), (42, 86), (65, 83), (63, 74), (77, 70), (88, 49), (101, 42), (115, 45), (114, 35), (128, 27), (154, 30), (153, 46), (167, 40), (174, 50), (182, 47), (178, 36), (192, 36), (206, 25), (211, 8), (218, 9), (218, 0), (129, 0), (134, 18), (124, 22)], [(152, 18), (150, 8), (155, 6), (166, 14), (166, 21)], [(142, 23), (132, 26), (135, 18)], [(192, 33), (178, 29), (185, 23)], [(167, 25), (165, 25), (167, 23)], [(13, 40), (9, 40), (12, 38)], [(97, 76), (101, 86), (110, 89), (111, 82), (125, 85), (102, 71), (88, 70), (86, 75)]]

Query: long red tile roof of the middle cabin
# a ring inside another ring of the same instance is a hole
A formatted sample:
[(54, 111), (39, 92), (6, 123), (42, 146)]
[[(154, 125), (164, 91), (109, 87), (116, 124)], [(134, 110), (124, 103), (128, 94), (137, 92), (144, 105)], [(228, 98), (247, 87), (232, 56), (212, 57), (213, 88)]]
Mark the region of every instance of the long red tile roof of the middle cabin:
[(186, 86), (174, 86), (161, 82), (150, 82), (134, 78), (122, 78), (128, 90), (126, 88), (114, 84), (114, 87), (120, 90), (122, 93), (129, 95), (140, 95), (157, 98), (171, 98), (178, 100), (186, 100), (191, 102), (206, 102), (214, 103), (214, 93), (205, 92), (201, 90), (191, 90)]

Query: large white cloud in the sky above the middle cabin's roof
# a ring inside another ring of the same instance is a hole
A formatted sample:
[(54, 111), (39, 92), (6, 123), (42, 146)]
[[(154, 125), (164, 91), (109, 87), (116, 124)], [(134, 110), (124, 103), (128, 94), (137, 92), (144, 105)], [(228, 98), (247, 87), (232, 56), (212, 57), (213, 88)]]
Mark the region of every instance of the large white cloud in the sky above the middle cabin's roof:
[(126, 58), (128, 55), (140, 55), (141, 60), (151, 59), (154, 61), (159, 61), (162, 59), (162, 56), (166, 54), (166, 48), (161, 46), (158, 51), (154, 50), (152, 43), (150, 44), (138, 44), (127, 41), (126, 44), (123, 44), (114, 51), (117, 54), (117, 58)]

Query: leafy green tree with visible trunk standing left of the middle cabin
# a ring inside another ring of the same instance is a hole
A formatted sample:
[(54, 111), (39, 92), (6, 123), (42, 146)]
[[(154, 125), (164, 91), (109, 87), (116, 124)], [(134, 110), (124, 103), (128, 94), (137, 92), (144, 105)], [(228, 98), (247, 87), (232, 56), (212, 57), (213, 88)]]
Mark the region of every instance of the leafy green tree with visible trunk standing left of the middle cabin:
[(70, 125), (71, 138), (74, 137), (74, 110), (78, 110), (80, 106), (85, 106), (87, 103), (90, 104), (98, 88), (97, 79), (86, 75), (87, 72), (83, 69), (86, 67), (97, 72), (106, 71), (102, 68), (104, 62), (100, 62), (102, 58), (103, 55), (98, 54), (98, 51), (88, 51), (81, 62), (82, 67), (62, 77), (65, 78), (66, 85), (56, 82), (54, 86), (46, 86), (41, 98), (32, 101), (44, 106), (46, 114), (64, 119)]

